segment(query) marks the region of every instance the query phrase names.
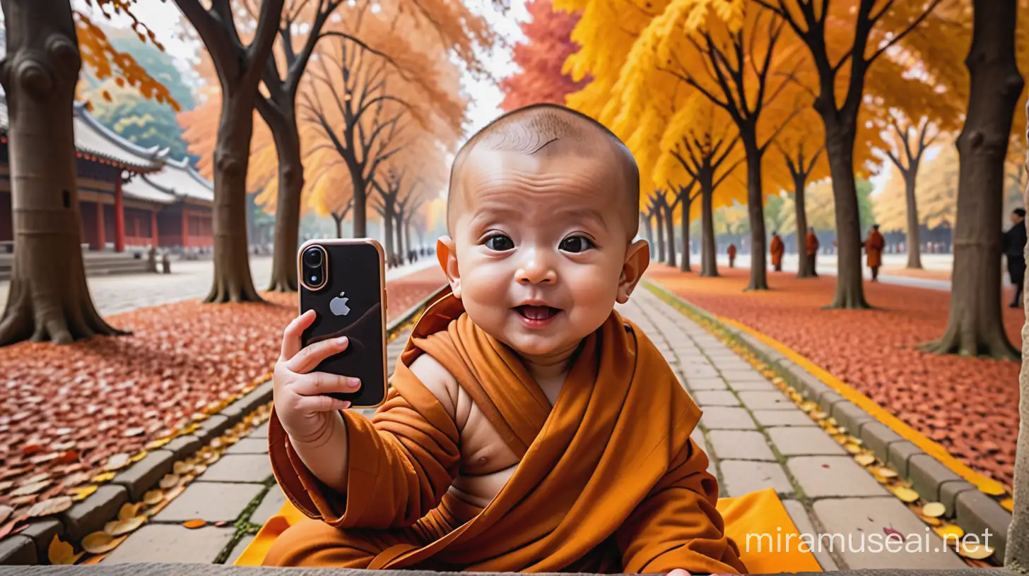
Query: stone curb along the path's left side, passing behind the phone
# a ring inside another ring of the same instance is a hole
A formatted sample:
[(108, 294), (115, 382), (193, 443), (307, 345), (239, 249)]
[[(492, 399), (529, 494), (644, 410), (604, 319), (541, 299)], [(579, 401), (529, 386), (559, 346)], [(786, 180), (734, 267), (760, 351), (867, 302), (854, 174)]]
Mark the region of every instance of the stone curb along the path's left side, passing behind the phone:
[[(401, 328), (446, 290), (447, 286), (443, 286), (404, 311), (386, 325), (386, 333), (390, 334)], [(146, 491), (156, 487), (161, 478), (172, 471), (176, 461), (191, 456), (214, 438), (224, 434), (226, 430), (242, 422), (246, 415), (271, 402), (272, 396), (272, 382), (269, 380), (221, 411), (208, 417), (193, 433), (178, 436), (164, 446), (151, 451), (143, 460), (119, 472), (109, 483), (101, 485), (97, 492), (56, 518), (48, 517), (31, 523), (21, 534), (4, 538), (0, 541), (0, 565), (46, 563), (46, 550), (50, 540), (54, 539), (54, 534), (60, 534), (63, 540), (78, 545), (84, 536), (103, 530), (104, 525), (115, 518), (122, 504), (140, 501)]]

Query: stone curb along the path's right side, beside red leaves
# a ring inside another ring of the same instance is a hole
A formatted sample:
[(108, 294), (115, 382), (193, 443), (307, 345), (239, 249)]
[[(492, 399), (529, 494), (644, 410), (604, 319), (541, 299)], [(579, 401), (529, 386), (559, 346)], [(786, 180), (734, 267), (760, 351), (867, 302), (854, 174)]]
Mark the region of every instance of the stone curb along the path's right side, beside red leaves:
[(665, 287), (653, 282), (646, 284), (652, 291), (674, 298), (732, 334), (736, 340), (768, 363), (806, 400), (816, 402), (822, 411), (846, 427), (849, 434), (860, 438), (880, 460), (894, 468), (901, 478), (911, 480), (919, 496), (930, 502), (943, 503), (947, 508), (947, 514), (953, 517), (954, 524), (961, 527), (965, 533), (982, 537), (986, 530), (989, 530), (992, 543), (995, 543), (994, 557), (1004, 557), (1012, 513), (1001, 507), (996, 500), (963, 480), (931, 455), (904, 440), (817, 376), (786, 359), (779, 351), (761, 343), (752, 334), (725, 325), (707, 311), (683, 300)]

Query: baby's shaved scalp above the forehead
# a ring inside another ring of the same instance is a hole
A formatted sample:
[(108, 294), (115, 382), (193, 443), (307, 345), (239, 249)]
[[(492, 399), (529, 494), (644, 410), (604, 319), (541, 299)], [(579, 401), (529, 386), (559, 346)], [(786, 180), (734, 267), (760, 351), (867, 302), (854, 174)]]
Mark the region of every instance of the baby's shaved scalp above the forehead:
[(447, 227), (451, 235), (469, 194), (463, 175), (469, 158), (484, 151), (557, 158), (578, 155), (603, 158), (617, 167), (622, 178), (598, 194), (608, 194), (624, 207), (629, 240), (639, 225), (639, 168), (629, 148), (597, 120), (556, 104), (534, 104), (508, 112), (490, 122), (458, 150), (451, 168), (447, 199)]

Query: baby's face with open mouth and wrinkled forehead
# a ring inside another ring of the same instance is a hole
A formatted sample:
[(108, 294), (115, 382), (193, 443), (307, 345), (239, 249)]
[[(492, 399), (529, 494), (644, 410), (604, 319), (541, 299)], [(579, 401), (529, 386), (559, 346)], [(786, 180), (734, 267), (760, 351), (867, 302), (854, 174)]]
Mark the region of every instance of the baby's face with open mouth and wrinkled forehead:
[(456, 293), (476, 325), (524, 356), (573, 350), (636, 284), (624, 271), (637, 215), (627, 216), (609, 155), (476, 151), (464, 165)]

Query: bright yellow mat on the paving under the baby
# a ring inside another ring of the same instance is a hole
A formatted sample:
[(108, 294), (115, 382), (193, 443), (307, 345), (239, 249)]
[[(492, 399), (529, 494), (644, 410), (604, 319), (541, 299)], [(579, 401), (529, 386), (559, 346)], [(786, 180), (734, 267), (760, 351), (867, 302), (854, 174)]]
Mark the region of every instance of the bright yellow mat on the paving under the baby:
[[(741, 560), (751, 574), (821, 572), (822, 568), (813, 553), (797, 549), (800, 537), (796, 526), (774, 490), (722, 498), (718, 500), (717, 507), (725, 519), (725, 532), (740, 547)], [(261, 527), (234, 566), (260, 566), (275, 539), (303, 517), (299, 510), (286, 502), (279, 513)], [(790, 534), (797, 536), (790, 538)], [(768, 536), (762, 538), (764, 535)], [(770, 546), (770, 543), (776, 542), (792, 545), (783, 549)]]

